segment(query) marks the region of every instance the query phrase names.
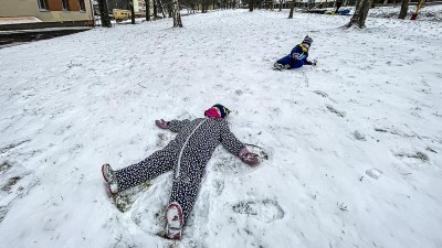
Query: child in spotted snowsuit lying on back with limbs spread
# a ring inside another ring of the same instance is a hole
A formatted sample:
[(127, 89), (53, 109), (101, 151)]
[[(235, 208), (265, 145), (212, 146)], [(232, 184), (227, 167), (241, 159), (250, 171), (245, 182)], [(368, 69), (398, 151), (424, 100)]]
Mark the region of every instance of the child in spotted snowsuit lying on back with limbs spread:
[(194, 120), (156, 120), (161, 129), (179, 132), (162, 150), (130, 166), (113, 171), (109, 164), (102, 166), (103, 177), (110, 194), (136, 186), (165, 172), (173, 171), (170, 204), (166, 208), (166, 235), (180, 239), (182, 228), (197, 198), (198, 188), (207, 162), (221, 142), (225, 149), (238, 154), (250, 165), (260, 162), (257, 154), (249, 152), (229, 130), (225, 118), (230, 110), (214, 105), (204, 111), (206, 118)]

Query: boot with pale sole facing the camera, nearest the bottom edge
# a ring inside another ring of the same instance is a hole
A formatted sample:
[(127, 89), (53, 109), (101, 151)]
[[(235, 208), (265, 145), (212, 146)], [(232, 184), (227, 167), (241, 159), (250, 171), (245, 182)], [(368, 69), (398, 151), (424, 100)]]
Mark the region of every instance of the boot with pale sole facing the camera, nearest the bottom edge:
[(169, 239), (181, 239), (182, 235), (182, 208), (179, 203), (170, 203), (166, 208), (166, 236)]

